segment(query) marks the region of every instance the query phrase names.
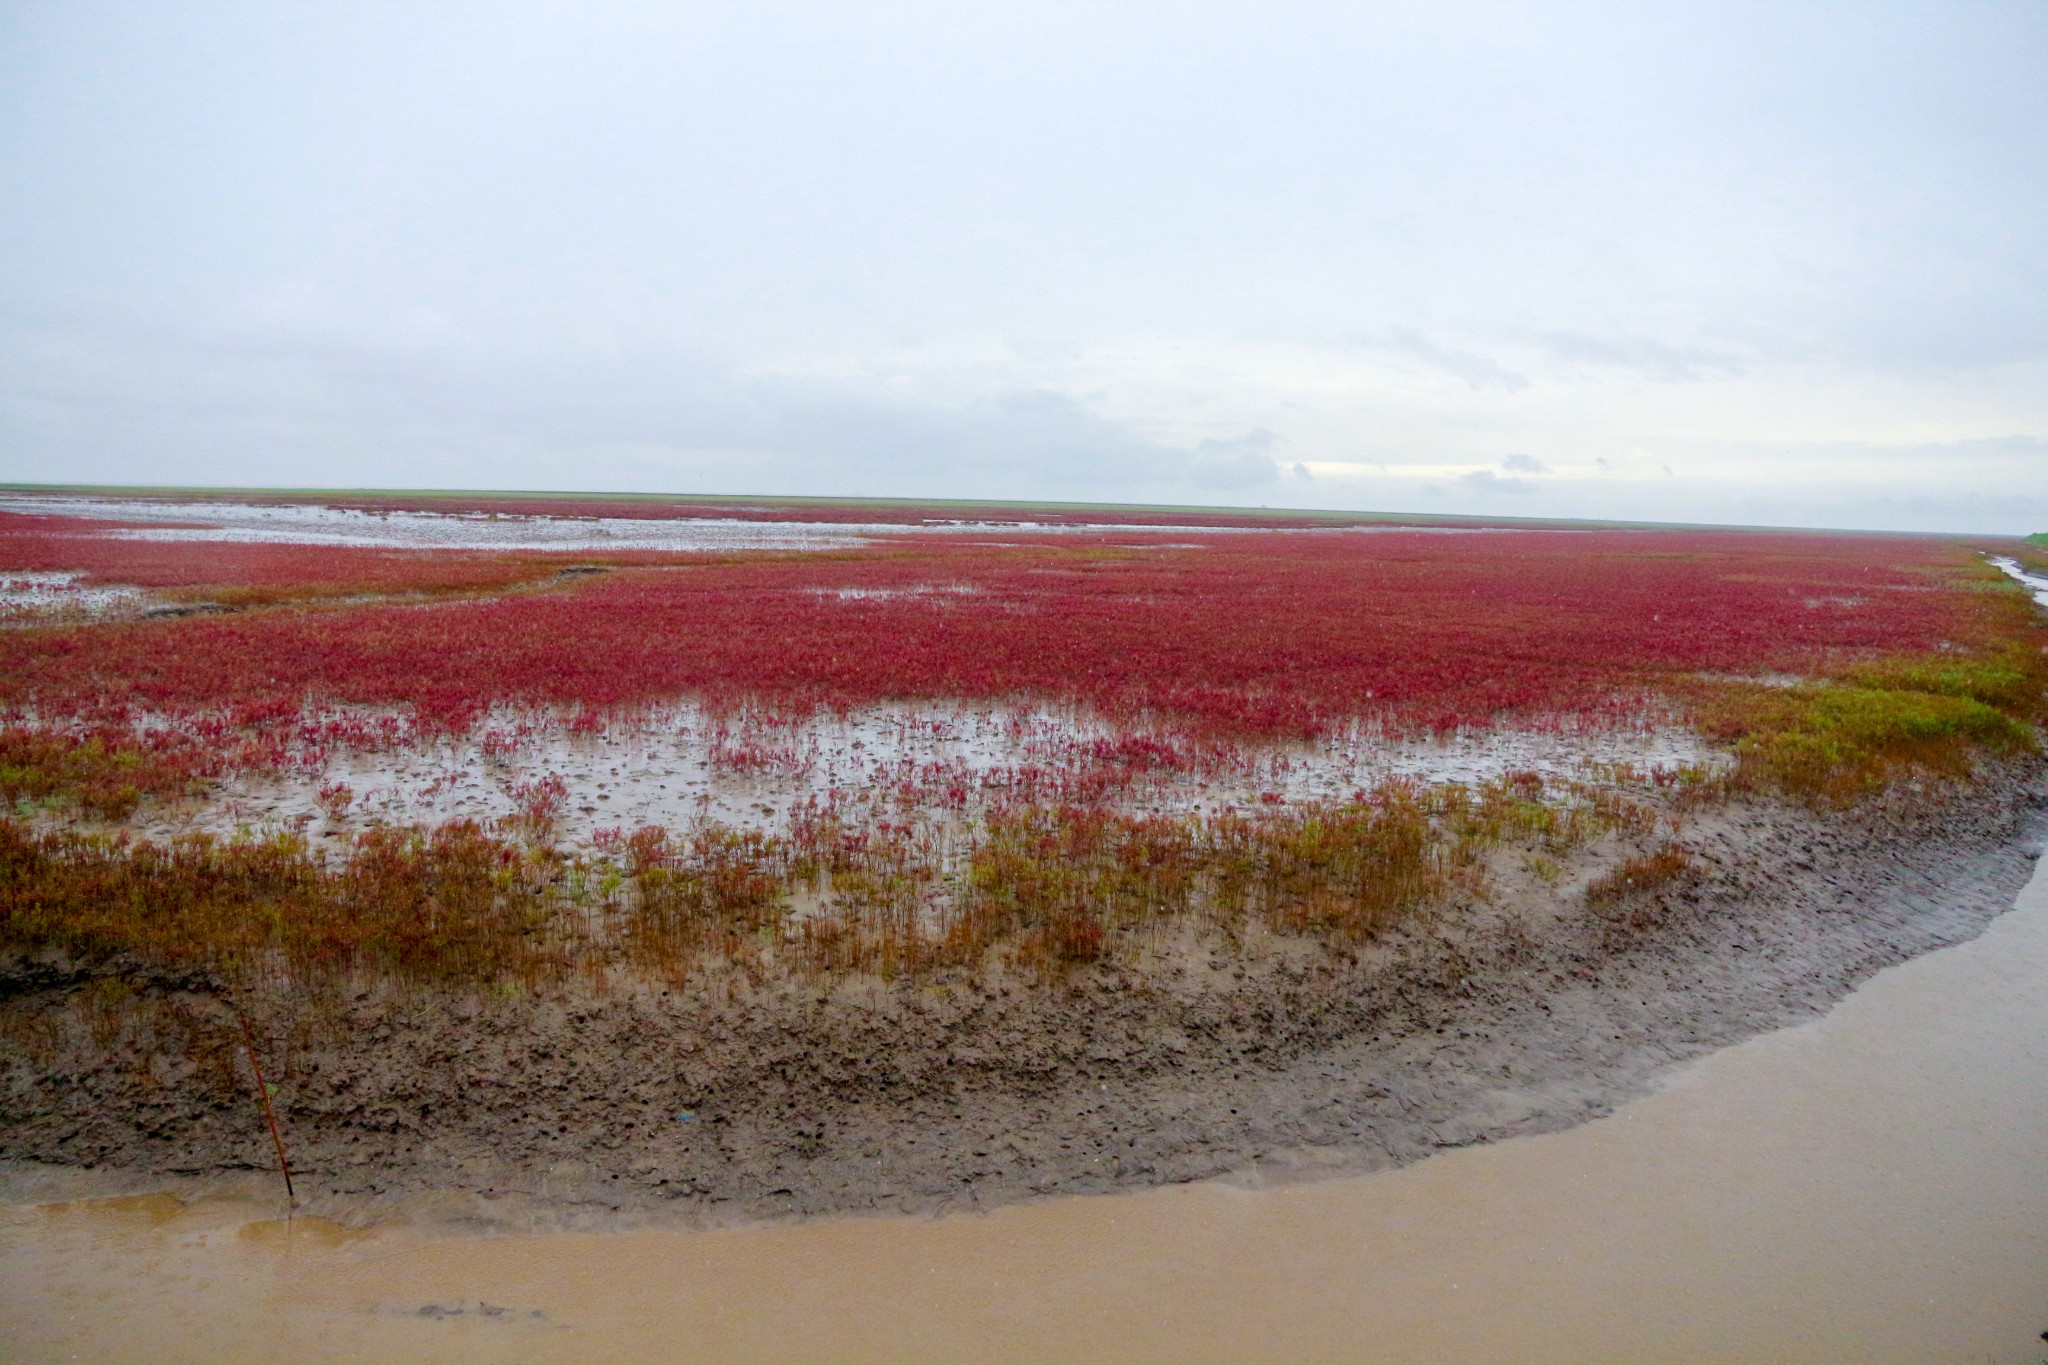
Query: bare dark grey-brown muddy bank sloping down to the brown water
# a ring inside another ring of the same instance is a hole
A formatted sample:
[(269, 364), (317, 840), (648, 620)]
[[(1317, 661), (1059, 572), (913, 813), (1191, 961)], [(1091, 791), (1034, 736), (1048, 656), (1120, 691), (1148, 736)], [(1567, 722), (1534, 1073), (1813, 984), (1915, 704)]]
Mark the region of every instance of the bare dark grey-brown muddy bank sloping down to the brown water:
[[(1401, 1164), (1608, 1111), (2011, 907), (2040, 763), (1847, 817), (1692, 817), (1698, 872), (1591, 909), (1616, 847), (1343, 956), (1182, 941), (1061, 988), (844, 984), (250, 1001), (301, 1195), (467, 1191), (483, 1222), (936, 1209)], [(0, 1154), (131, 1175), (272, 1164), (223, 1007), (14, 964)], [(459, 1207), (457, 1207), (459, 1205)]]

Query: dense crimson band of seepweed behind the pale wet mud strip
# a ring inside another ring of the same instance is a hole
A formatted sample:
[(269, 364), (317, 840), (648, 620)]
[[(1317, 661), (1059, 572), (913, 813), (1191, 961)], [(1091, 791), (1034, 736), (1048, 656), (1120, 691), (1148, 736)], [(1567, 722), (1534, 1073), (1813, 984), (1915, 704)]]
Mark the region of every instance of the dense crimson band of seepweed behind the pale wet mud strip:
[(395, 706), (465, 729), (498, 702), (1053, 698), (1190, 735), (1448, 731), (1626, 716), (1698, 673), (1935, 651), (1982, 634), (1968, 573), (1935, 540), (1755, 532), (920, 538), (442, 606), (14, 630), (0, 706)]

